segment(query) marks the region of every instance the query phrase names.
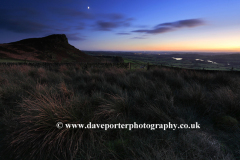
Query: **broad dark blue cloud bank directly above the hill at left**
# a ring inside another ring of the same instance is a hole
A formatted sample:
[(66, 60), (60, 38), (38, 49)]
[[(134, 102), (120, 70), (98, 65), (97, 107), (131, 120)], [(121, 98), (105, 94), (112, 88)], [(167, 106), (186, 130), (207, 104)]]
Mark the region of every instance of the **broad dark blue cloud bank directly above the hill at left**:
[[(48, 19), (44, 14), (41, 15), (37, 10), (28, 8), (18, 9), (0, 9), (0, 29), (12, 31), (15, 33), (45, 33), (53, 32), (69, 33), (72, 30), (83, 30), (85, 24), (78, 22), (77, 24), (65, 23), (60, 24), (59, 21)], [(75, 38), (77, 39), (77, 38)]]

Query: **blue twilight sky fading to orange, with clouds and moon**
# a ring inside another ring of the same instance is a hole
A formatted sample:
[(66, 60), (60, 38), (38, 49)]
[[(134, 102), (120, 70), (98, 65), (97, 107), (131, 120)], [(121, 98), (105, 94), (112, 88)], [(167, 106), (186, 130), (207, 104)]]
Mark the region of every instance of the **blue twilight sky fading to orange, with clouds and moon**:
[(0, 43), (66, 34), (87, 51), (240, 52), (240, 0), (1, 0)]

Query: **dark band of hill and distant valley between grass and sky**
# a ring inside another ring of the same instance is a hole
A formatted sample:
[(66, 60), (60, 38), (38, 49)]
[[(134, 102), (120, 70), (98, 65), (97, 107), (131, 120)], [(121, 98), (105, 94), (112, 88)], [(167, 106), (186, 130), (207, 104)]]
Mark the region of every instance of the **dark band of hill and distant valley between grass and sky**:
[[(105, 57), (104, 57), (105, 56)], [(188, 69), (240, 71), (240, 53), (81, 51), (66, 35), (50, 35), (0, 44), (0, 63), (132, 63), (132, 68), (163, 65)]]

